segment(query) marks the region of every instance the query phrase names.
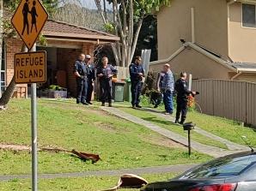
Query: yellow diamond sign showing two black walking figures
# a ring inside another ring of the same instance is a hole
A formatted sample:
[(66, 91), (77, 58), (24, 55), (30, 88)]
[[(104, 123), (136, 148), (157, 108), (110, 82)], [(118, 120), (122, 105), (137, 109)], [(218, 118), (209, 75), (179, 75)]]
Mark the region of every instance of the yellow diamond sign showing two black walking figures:
[(21, 0), (11, 23), (30, 50), (47, 19), (48, 14), (40, 0)]

